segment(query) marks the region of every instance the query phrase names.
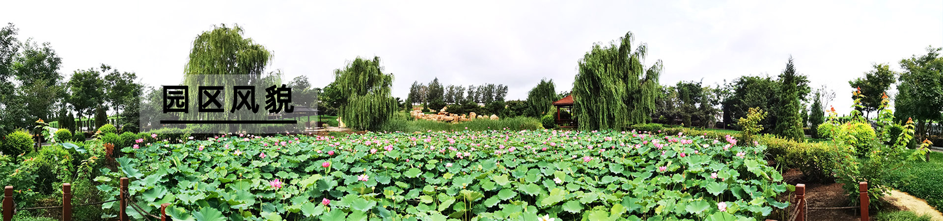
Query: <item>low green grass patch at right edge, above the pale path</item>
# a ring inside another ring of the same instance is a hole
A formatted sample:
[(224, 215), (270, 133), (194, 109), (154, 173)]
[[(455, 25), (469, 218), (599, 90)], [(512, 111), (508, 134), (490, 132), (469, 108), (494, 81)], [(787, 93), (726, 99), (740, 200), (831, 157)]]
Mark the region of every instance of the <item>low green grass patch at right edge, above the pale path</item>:
[(943, 208), (943, 153), (930, 152), (930, 161), (916, 161), (889, 173), (891, 186)]

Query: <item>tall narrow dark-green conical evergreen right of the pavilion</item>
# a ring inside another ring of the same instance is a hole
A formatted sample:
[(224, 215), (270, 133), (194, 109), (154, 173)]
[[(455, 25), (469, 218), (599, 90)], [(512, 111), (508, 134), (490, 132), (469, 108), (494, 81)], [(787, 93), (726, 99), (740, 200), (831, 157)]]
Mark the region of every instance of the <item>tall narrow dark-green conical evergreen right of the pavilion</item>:
[[(796, 73), (795, 66), (792, 63), (792, 57), (786, 63), (786, 70), (779, 76), (782, 86), (780, 87), (779, 112), (777, 112), (776, 128), (773, 130), (776, 135), (794, 141), (802, 141), (802, 115), (801, 105), (802, 96), (799, 90), (802, 90), (802, 84), (807, 82), (805, 76)], [(804, 82), (803, 82), (804, 80)]]

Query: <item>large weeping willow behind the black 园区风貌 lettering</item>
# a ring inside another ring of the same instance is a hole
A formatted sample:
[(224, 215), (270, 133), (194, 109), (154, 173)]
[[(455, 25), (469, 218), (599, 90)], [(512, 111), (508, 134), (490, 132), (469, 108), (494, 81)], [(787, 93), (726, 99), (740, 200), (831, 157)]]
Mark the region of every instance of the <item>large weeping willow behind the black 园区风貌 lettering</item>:
[[(272, 85), (281, 85), (280, 73), (265, 73), (265, 67), (272, 60), (272, 52), (252, 39), (243, 38), (240, 26), (215, 26), (205, 31), (193, 40), (190, 49), (190, 61), (184, 69), (184, 85), (190, 86), (190, 112), (181, 118), (186, 119), (231, 119), (231, 120), (265, 120), (266, 111), (259, 108), (257, 112), (245, 109), (230, 112), (233, 103), (233, 86), (256, 86), (256, 102), (265, 96), (265, 88)], [(223, 86), (223, 93), (218, 96), (223, 105), (222, 112), (196, 111), (199, 100), (198, 86)], [(260, 106), (264, 106), (262, 103)], [(207, 128), (208, 127), (208, 128)], [(259, 125), (205, 125), (199, 127), (206, 132), (221, 130), (256, 130)]]

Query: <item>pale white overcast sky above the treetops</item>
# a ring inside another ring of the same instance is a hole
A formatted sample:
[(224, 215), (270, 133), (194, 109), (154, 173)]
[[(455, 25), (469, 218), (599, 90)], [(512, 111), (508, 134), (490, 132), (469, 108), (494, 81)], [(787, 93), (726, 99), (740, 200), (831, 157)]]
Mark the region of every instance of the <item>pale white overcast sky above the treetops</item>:
[(508, 85), (508, 100), (525, 99), (543, 77), (570, 90), (594, 42), (632, 31), (648, 44), (646, 65), (664, 61), (662, 84), (775, 76), (791, 55), (813, 86), (835, 90), (846, 113), (848, 81), (872, 62), (900, 71), (900, 59), (943, 46), (940, 1), (788, 2), (12, 1), (0, 22), (20, 28), (21, 40), (51, 42), (63, 75), (106, 63), (150, 86), (176, 85), (198, 34), (238, 24), (273, 52), (270, 71), (317, 87), (346, 61), (379, 56), (395, 96), (438, 76), (445, 85)]

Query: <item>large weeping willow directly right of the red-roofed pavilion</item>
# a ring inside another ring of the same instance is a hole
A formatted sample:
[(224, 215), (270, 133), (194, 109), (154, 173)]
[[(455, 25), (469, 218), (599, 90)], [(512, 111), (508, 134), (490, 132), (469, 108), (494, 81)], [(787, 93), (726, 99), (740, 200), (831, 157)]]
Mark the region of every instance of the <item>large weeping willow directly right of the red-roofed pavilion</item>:
[(621, 129), (651, 120), (661, 60), (644, 67), (646, 45), (632, 48), (632, 32), (618, 42), (593, 45), (579, 60), (573, 82), (573, 111), (583, 129)]

